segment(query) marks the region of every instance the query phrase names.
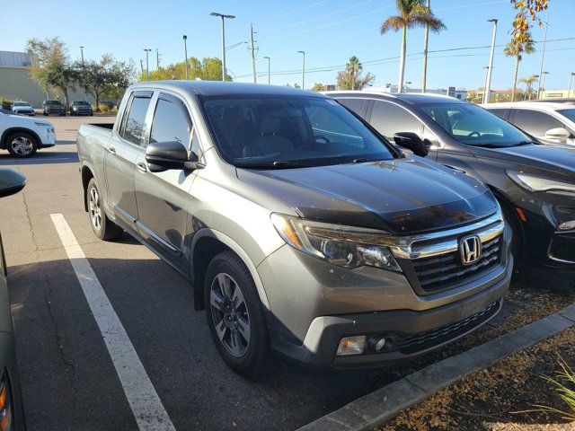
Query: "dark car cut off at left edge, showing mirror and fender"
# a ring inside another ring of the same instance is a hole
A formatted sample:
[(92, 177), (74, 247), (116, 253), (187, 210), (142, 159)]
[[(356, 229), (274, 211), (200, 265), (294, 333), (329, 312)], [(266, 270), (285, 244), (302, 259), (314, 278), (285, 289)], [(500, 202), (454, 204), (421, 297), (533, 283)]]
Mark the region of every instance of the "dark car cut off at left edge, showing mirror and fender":
[[(0, 168), (0, 198), (17, 193), (25, 185), (26, 178), (22, 174)], [(6, 277), (6, 259), (0, 234), (0, 428), (2, 431), (22, 431), (26, 426)]]

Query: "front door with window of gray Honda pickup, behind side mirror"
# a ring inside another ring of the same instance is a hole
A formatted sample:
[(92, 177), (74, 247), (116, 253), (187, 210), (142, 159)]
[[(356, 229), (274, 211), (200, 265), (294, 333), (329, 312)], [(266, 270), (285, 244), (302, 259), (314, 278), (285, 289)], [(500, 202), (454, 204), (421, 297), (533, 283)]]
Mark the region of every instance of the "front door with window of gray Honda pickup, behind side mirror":
[[(158, 92), (148, 114), (150, 125), (146, 143), (181, 142), (200, 156), (197, 136), (187, 103), (179, 96)], [(192, 145), (193, 141), (193, 145)], [(190, 188), (196, 172), (169, 170), (150, 172), (146, 154), (137, 159), (136, 200), (137, 227), (156, 251), (183, 272), (188, 271), (188, 257), (184, 252), (184, 240), (191, 207)]]

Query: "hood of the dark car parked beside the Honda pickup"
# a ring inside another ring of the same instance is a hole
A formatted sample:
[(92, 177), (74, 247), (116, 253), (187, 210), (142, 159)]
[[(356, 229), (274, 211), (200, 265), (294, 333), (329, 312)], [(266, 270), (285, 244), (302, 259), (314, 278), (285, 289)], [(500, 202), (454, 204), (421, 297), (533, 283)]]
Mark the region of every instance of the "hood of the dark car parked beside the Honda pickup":
[(480, 158), (517, 163), (562, 175), (575, 174), (575, 148), (553, 145), (518, 145), (509, 148), (473, 147), (472, 152)]

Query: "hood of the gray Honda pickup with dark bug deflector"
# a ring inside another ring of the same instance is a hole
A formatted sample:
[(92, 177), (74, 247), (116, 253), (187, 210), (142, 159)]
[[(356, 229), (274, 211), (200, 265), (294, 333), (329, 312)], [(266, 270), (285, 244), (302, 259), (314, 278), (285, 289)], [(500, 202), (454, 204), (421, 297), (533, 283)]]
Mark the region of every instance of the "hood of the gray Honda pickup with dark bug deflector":
[(419, 157), (299, 169), (237, 169), (237, 175), (302, 217), (396, 234), (473, 222), (498, 207), (481, 182)]

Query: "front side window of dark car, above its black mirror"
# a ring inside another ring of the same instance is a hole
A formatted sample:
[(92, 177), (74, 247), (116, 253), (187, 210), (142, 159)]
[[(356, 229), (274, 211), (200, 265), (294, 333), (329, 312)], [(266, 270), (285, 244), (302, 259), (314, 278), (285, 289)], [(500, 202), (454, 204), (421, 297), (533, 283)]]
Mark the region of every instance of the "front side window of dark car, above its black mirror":
[(374, 101), (371, 125), (393, 141), (398, 132), (413, 132), (421, 136), (423, 124), (402, 107), (387, 101)]

